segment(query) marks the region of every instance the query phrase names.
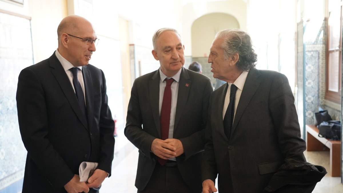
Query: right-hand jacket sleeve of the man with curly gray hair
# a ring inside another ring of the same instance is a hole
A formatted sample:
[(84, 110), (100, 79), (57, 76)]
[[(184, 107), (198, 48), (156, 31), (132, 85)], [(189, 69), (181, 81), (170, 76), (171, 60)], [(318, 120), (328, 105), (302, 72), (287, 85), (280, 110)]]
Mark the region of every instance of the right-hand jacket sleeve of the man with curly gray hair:
[(269, 107), (284, 158), (306, 161), (306, 144), (300, 137), (294, 96), (287, 77), (281, 73), (273, 78)]

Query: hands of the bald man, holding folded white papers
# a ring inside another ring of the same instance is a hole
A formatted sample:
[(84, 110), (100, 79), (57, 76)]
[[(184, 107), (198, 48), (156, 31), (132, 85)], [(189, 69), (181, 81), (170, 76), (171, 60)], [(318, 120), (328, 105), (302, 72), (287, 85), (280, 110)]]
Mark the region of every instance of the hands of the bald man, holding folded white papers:
[(89, 192), (89, 188), (98, 188), (107, 177), (107, 172), (104, 170), (96, 169), (93, 175), (88, 178), (88, 183), (80, 182), (80, 176), (74, 174), (74, 177), (64, 185), (64, 189), (68, 193)]

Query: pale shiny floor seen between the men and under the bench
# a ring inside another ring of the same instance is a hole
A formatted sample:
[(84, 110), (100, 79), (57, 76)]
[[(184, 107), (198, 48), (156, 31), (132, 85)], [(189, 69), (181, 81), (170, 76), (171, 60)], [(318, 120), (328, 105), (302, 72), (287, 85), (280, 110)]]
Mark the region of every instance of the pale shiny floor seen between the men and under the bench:
[[(305, 151), (308, 162), (324, 166), (328, 174), (317, 183), (313, 193), (343, 193), (343, 184), (340, 177), (330, 176), (329, 151)], [(123, 130), (118, 130), (115, 145), (115, 157), (112, 166), (112, 176), (103, 182), (101, 193), (135, 193), (134, 186), (138, 160), (138, 149), (124, 136)]]

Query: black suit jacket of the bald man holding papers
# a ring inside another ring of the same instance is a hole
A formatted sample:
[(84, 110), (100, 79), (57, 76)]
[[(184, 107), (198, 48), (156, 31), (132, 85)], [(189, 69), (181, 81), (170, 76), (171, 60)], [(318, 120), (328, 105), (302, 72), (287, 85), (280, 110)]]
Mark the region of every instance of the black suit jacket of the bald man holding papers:
[(19, 75), (18, 120), (27, 149), (23, 193), (66, 192), (82, 161), (111, 172), (114, 121), (104, 73), (90, 64), (82, 68), (87, 120), (55, 53)]

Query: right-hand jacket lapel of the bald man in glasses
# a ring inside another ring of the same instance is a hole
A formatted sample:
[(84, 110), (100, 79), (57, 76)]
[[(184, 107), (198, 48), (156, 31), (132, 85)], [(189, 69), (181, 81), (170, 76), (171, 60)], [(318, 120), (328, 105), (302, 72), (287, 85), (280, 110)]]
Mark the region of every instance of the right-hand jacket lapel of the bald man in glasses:
[[(87, 66), (82, 67), (83, 81), (85, 85), (86, 111), (88, 128), (92, 128), (94, 116), (94, 87), (93, 81)], [(86, 127), (87, 128), (87, 127)]]

